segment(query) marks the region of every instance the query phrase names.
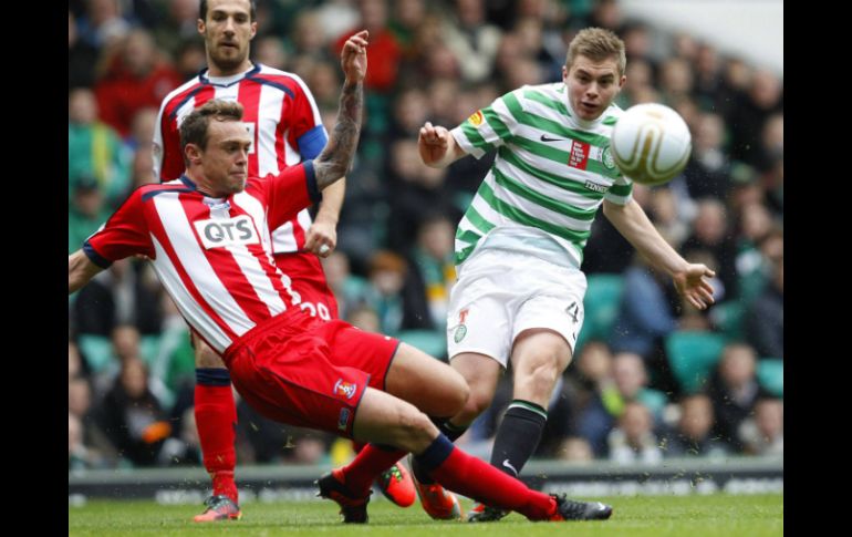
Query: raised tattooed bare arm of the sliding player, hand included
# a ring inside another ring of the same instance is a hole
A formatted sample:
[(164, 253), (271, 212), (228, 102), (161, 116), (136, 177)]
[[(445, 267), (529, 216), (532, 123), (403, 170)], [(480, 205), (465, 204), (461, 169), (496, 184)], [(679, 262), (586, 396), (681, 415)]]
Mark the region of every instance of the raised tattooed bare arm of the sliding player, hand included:
[(363, 30), (346, 40), (341, 52), (341, 66), (346, 74), (340, 97), (337, 121), (329, 143), (313, 162), (316, 186), (322, 190), (346, 174), (352, 166), (361, 135), (361, 113), (364, 107), (364, 75), (367, 70), (367, 37)]

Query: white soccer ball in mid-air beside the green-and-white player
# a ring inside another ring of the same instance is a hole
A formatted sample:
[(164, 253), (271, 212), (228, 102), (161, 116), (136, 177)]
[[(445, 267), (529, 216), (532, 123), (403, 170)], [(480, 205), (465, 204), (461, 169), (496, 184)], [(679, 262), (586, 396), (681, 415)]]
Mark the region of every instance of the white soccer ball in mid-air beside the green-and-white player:
[(612, 156), (619, 169), (643, 185), (669, 182), (686, 166), (693, 149), (680, 114), (662, 104), (627, 109), (612, 131)]

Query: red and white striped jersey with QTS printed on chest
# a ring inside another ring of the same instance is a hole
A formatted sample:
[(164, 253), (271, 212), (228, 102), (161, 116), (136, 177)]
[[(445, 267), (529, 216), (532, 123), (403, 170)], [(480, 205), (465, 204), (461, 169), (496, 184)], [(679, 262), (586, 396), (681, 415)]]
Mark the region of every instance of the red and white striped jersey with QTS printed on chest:
[(290, 306), (290, 278), (272, 260), (270, 229), (320, 199), (306, 161), (210, 198), (186, 176), (136, 189), (89, 238), (98, 267), (143, 254), (187, 322), (217, 352)]

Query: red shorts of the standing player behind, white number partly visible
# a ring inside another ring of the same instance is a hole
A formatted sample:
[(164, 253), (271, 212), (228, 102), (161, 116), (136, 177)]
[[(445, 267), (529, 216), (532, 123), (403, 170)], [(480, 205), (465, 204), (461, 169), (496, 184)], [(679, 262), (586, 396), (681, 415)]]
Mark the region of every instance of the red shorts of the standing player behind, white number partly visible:
[(325, 281), (320, 258), (310, 252), (276, 254), (276, 265), (290, 277), (292, 288), (302, 299), (299, 304), (311, 317), (323, 321), (337, 319), (337, 301)]

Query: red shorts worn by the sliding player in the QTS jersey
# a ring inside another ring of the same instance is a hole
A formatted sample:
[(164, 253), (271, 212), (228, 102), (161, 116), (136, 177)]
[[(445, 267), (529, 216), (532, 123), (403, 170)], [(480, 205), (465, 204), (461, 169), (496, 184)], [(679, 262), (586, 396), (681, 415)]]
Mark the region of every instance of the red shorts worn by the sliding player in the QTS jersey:
[(352, 437), (366, 386), (385, 389), (399, 342), (291, 308), (225, 353), (242, 399), (271, 420)]

